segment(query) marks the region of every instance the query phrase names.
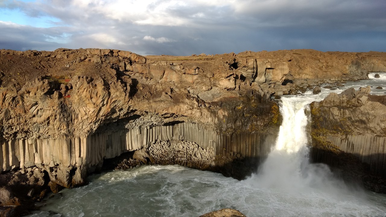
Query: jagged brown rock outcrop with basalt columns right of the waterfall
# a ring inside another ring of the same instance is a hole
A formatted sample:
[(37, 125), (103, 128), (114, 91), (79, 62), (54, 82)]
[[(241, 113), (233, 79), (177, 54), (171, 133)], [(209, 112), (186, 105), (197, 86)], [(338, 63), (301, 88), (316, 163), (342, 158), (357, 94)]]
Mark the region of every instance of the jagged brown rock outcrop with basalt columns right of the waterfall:
[(357, 174), (365, 186), (386, 193), (386, 96), (370, 87), (330, 93), (311, 103), (313, 159)]

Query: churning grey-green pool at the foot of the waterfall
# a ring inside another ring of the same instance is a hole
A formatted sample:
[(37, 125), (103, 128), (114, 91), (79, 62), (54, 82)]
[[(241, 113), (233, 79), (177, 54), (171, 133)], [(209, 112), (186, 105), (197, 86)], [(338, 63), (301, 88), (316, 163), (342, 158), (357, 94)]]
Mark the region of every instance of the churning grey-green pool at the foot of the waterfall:
[(237, 181), (181, 166), (142, 166), (93, 176), (89, 185), (65, 189), (43, 208), (60, 214), (40, 212), (32, 216), (197, 217), (224, 207), (249, 217), (384, 216), (385, 201), (382, 195), (369, 192), (361, 197), (344, 192), (338, 197), (317, 190), (266, 188), (256, 175)]

